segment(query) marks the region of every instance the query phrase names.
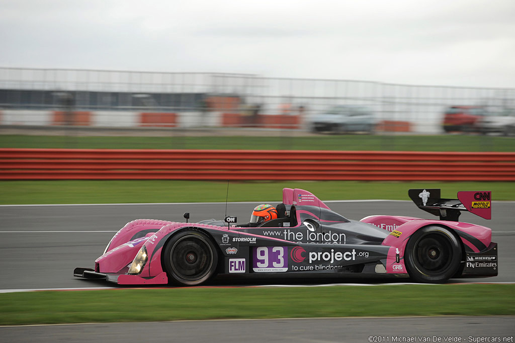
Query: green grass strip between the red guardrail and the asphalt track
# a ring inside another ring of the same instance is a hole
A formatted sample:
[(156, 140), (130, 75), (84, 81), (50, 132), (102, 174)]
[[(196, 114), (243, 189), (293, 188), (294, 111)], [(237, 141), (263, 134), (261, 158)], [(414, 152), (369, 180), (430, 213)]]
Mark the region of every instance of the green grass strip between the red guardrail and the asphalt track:
[[(514, 182), (232, 182), (229, 201), (282, 199), (282, 189), (302, 188), (321, 200), (409, 200), (409, 188), (441, 188), (456, 199), (460, 190), (491, 190), (494, 200), (515, 200)], [(0, 181), (0, 204), (100, 204), (225, 202), (227, 183), (207, 181)]]

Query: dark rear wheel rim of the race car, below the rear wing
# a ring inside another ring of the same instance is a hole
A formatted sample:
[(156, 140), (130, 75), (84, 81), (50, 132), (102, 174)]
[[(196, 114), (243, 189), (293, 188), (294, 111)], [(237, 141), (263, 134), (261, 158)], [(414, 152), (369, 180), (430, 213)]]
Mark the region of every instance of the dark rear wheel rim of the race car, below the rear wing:
[(441, 233), (430, 233), (415, 243), (413, 263), (423, 274), (437, 276), (452, 266), (453, 248), (449, 238)]

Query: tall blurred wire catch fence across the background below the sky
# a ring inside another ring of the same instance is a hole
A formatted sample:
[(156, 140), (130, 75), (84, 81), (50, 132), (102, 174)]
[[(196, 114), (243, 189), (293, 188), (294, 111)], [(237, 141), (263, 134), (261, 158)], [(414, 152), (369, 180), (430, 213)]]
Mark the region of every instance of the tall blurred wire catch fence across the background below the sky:
[[(383, 130), (441, 133), (446, 107), (513, 109), (515, 89), (228, 73), (0, 68), (1, 125), (307, 130), (313, 116), (336, 105), (363, 107), (377, 123), (396, 123)], [(56, 111), (82, 114), (66, 119)]]

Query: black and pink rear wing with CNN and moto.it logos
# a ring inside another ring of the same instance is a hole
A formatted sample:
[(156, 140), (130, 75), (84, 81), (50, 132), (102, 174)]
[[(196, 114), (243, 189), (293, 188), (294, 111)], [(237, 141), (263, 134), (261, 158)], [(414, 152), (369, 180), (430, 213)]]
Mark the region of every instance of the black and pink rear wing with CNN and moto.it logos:
[(409, 198), (424, 211), (439, 216), (440, 220), (458, 221), (461, 211), (491, 219), (491, 191), (460, 191), (458, 199), (440, 198), (440, 189), (410, 189)]

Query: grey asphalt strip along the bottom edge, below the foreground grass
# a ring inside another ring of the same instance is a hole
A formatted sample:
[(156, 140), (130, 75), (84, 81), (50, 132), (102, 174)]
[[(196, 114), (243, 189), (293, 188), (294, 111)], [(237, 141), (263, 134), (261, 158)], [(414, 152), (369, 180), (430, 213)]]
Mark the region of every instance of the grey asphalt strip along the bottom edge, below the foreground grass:
[(10, 326), (0, 327), (0, 342), (366, 343), (375, 339), (379, 343), (419, 343), (424, 338), (431, 343), (513, 342), (513, 320), (513, 317), (310, 318)]

